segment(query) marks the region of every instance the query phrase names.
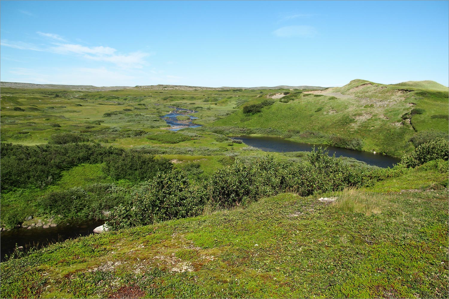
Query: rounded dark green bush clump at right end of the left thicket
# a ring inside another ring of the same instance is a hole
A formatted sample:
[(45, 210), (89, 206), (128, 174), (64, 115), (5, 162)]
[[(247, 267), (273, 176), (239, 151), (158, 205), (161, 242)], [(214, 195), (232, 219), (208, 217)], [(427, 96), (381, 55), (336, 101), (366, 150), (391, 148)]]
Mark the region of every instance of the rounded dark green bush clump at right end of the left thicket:
[(116, 180), (124, 178), (138, 182), (153, 178), (158, 172), (172, 169), (170, 160), (155, 159), (154, 156), (138, 152), (123, 152), (120, 156), (108, 156), (104, 161), (103, 171)]

